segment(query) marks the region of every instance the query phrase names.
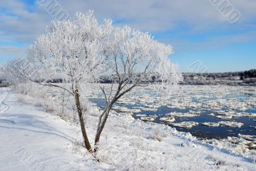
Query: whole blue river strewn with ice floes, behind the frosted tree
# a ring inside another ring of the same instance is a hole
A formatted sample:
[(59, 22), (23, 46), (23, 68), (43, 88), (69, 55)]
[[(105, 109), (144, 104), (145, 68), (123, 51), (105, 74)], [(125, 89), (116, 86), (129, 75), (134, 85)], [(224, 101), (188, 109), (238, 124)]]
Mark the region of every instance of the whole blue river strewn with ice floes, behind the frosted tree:
[[(89, 95), (104, 101), (96, 93)], [(252, 137), (256, 136), (255, 101), (256, 87), (181, 85), (179, 93), (171, 97), (138, 87), (113, 109), (127, 119), (133, 116), (148, 124), (175, 126), (220, 148), (250, 156), (256, 155)]]

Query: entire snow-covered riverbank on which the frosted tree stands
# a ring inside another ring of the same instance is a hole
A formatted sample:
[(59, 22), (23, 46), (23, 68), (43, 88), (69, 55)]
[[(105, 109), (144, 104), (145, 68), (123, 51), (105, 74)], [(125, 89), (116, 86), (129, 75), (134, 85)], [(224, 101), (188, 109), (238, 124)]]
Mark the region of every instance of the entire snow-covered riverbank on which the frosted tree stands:
[[(48, 114), (36, 101), (0, 88), (0, 170), (256, 169), (251, 160), (204, 144), (189, 133), (116, 115), (109, 117), (102, 133), (97, 163), (84, 150), (78, 124)], [(97, 114), (87, 120), (93, 140)]]

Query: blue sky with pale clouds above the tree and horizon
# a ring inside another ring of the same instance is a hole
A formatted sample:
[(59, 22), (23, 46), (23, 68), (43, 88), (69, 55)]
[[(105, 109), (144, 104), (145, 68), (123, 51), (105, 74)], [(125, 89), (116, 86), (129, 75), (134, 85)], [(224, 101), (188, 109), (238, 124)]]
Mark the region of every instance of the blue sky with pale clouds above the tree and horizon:
[[(229, 13), (218, 10), (223, 2), (232, 6)], [(151, 33), (173, 46), (170, 59), (183, 72), (195, 71), (193, 63), (209, 72), (256, 68), (255, 0), (0, 0), (0, 64), (25, 56), (56, 19), (47, 3), (60, 4), (68, 17), (93, 10), (100, 22), (112, 19)]]

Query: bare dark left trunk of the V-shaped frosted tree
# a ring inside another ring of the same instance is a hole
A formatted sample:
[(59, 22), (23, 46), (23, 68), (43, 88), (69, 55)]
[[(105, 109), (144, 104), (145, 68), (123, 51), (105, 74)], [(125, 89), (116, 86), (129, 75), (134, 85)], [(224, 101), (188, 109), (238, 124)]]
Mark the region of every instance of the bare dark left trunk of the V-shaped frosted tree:
[(82, 108), (81, 108), (80, 95), (79, 95), (78, 89), (76, 89), (76, 92), (75, 92), (75, 99), (76, 99), (77, 112), (79, 115), (79, 121), (80, 121), (80, 125), (81, 125), (81, 131), (82, 131), (83, 138), (84, 138), (84, 145), (89, 152), (92, 152), (92, 147), (90, 145), (90, 142), (88, 140), (86, 130), (85, 130), (84, 117), (83, 117), (83, 112), (82, 112)]

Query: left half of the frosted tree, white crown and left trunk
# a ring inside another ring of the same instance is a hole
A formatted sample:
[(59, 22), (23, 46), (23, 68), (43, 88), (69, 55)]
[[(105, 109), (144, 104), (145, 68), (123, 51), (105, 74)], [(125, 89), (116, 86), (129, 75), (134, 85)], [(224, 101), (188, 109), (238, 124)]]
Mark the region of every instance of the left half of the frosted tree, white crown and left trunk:
[[(28, 79), (64, 89), (74, 96), (84, 145), (90, 152), (92, 146), (86, 133), (81, 98), (90, 91), (91, 84), (98, 82), (111, 30), (111, 20), (99, 24), (92, 11), (85, 15), (77, 13), (72, 20), (53, 21), (47, 34), (28, 48), (29, 67), (41, 70), (40, 75)], [(61, 78), (63, 84), (52, 84), (53, 78)]]

